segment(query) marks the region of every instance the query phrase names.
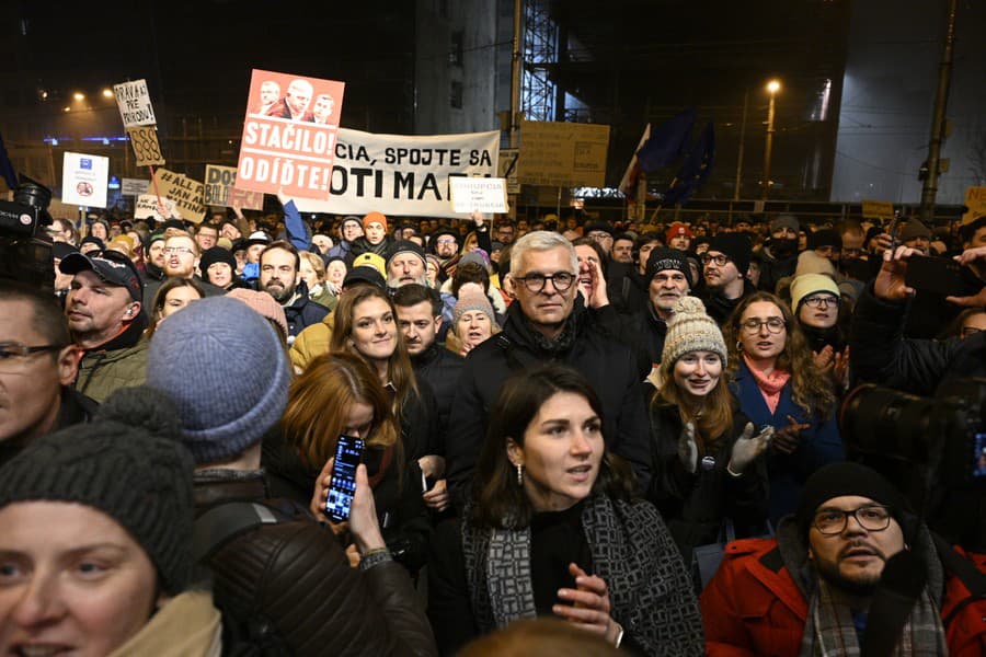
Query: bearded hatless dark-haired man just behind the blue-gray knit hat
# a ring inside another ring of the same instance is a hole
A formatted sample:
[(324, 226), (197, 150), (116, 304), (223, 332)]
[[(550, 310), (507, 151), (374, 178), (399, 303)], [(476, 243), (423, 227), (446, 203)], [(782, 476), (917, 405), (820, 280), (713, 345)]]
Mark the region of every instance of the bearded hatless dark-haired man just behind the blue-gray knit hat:
[(308, 298), (308, 286), (301, 280), (301, 256), (286, 240), (271, 242), (261, 253), (257, 287), (284, 308), (288, 344), (307, 326), (318, 324), (329, 314), (328, 308)]

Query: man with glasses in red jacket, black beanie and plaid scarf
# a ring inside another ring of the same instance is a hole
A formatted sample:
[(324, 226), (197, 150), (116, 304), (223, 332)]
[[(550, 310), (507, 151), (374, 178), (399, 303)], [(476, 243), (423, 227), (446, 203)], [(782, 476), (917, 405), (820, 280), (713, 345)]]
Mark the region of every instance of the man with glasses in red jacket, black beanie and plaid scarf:
[(701, 596), (707, 650), (982, 655), (984, 569), (986, 557), (935, 537), (879, 473), (833, 463), (776, 539), (730, 544)]

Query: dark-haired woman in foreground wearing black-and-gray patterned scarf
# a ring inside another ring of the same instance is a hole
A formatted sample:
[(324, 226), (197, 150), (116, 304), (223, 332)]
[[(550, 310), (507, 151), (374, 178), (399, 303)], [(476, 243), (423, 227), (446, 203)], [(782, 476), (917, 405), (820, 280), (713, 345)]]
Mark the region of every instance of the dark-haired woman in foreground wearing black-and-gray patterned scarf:
[(439, 650), (557, 616), (645, 655), (702, 655), (691, 583), (657, 510), (631, 499), (600, 403), (560, 365), (515, 374), (491, 413), (471, 503), (436, 530), (428, 614)]

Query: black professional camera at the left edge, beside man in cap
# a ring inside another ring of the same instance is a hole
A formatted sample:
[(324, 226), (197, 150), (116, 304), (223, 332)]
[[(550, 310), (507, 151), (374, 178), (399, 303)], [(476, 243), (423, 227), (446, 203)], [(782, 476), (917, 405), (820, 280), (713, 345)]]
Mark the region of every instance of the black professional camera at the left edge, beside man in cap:
[(25, 176), (12, 201), (0, 200), (0, 278), (54, 291), (51, 241), (44, 230), (51, 224), (49, 203), (50, 189)]

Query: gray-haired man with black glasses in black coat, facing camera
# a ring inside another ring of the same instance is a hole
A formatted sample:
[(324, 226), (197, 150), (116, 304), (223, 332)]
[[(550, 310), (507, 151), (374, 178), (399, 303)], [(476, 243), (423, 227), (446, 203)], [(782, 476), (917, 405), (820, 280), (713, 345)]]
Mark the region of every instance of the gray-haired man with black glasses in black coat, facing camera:
[[(649, 429), (641, 372), (633, 351), (600, 326), (599, 313), (577, 295), (578, 263), (572, 243), (558, 233), (535, 231), (514, 243), (511, 277), (515, 301), (503, 332), (466, 358), (452, 403), (446, 451), (448, 480), (461, 505), (503, 382), (516, 370), (547, 360), (566, 364), (595, 387), (604, 410), (609, 449), (630, 461), (640, 489), (651, 477)], [(610, 310), (611, 312), (611, 310)]]

